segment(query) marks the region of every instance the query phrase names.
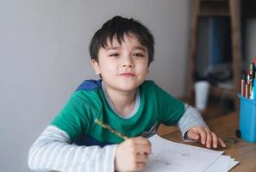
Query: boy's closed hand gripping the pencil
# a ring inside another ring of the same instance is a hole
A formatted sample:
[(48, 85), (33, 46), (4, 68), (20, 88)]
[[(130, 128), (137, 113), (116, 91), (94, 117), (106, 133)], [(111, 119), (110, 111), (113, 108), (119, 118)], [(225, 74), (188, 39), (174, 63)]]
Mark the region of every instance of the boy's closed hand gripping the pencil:
[(144, 169), (151, 154), (151, 143), (147, 138), (128, 138), (116, 147), (115, 170), (138, 171)]

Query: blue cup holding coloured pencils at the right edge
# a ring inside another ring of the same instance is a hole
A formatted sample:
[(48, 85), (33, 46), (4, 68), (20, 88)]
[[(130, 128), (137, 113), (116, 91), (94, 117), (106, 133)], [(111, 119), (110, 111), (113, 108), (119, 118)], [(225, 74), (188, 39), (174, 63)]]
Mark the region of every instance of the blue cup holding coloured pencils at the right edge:
[(247, 142), (256, 142), (256, 101), (238, 95), (240, 98), (240, 134)]

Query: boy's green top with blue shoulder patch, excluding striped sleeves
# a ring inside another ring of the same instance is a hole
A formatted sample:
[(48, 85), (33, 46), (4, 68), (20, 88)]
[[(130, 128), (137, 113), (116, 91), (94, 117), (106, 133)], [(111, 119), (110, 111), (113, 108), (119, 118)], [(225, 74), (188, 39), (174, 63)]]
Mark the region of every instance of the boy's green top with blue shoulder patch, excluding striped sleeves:
[(137, 137), (149, 131), (156, 123), (167, 126), (176, 124), (184, 114), (184, 103), (160, 89), (153, 81), (142, 83), (139, 92), (138, 110), (131, 118), (123, 119), (109, 106), (102, 81), (85, 80), (51, 124), (65, 131), (71, 142), (85, 138), (84, 145), (103, 146), (118, 144), (123, 140), (98, 126), (96, 118), (128, 137)]

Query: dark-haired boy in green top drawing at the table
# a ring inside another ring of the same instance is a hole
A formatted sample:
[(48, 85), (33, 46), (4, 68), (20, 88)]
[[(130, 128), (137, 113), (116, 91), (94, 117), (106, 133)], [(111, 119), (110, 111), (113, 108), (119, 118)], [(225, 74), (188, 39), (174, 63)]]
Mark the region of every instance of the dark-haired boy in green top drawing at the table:
[[(150, 31), (133, 19), (115, 16), (103, 24), (90, 45), (91, 64), (101, 79), (84, 81), (41, 133), (29, 151), (30, 169), (138, 171), (151, 153), (147, 137), (160, 123), (178, 125), (184, 139), (208, 148), (226, 146), (197, 110), (145, 81), (153, 45)], [(98, 126), (96, 119), (128, 139)]]

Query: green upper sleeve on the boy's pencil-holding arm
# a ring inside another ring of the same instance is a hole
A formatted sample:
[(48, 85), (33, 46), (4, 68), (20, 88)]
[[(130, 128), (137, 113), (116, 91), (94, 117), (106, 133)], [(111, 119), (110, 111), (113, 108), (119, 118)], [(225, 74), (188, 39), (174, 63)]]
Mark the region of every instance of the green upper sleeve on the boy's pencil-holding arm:
[(72, 143), (83, 133), (89, 132), (93, 116), (97, 115), (98, 108), (98, 105), (91, 101), (91, 95), (86, 95), (84, 91), (77, 91), (66, 102), (51, 124), (65, 131)]

